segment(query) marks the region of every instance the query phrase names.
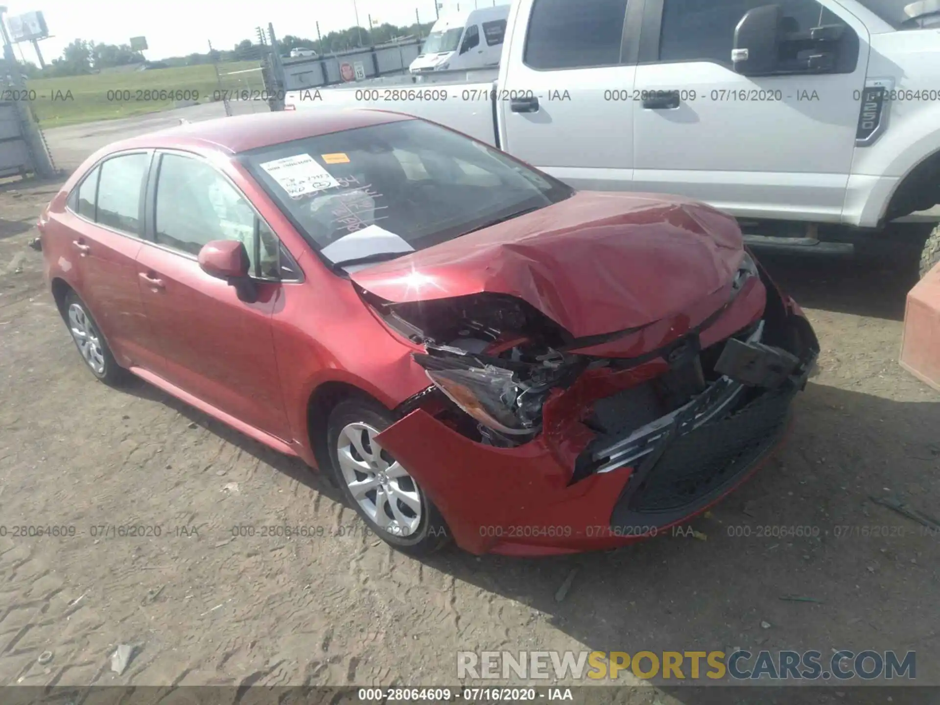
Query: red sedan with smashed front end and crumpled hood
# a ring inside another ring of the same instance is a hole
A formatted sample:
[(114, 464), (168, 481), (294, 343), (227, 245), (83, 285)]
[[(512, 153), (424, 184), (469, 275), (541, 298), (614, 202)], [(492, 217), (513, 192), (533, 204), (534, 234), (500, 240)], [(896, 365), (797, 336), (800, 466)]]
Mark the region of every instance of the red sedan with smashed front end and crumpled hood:
[(412, 554), (654, 536), (773, 451), (818, 353), (729, 216), (391, 113), (118, 142), (39, 230), (98, 379), (331, 473)]

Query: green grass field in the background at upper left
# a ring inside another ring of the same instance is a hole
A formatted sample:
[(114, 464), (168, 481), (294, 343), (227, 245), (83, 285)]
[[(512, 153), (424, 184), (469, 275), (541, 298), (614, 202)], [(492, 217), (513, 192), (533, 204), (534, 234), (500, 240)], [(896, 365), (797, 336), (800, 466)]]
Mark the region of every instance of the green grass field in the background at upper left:
[[(219, 100), (218, 91), (262, 90), (257, 61), (211, 64), (27, 81), (35, 92), (33, 110), (44, 128), (93, 120), (130, 118), (171, 108), (178, 101)], [(71, 91), (71, 97), (69, 92)]]

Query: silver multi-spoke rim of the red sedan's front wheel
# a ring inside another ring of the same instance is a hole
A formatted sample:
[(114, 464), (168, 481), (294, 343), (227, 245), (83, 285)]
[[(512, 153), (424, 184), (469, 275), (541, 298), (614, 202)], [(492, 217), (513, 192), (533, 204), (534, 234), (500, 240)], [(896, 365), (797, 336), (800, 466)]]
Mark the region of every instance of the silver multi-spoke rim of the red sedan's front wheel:
[(415, 479), (375, 440), (379, 431), (352, 423), (339, 432), (337, 459), (352, 498), (379, 528), (400, 538), (415, 534), (422, 504)]

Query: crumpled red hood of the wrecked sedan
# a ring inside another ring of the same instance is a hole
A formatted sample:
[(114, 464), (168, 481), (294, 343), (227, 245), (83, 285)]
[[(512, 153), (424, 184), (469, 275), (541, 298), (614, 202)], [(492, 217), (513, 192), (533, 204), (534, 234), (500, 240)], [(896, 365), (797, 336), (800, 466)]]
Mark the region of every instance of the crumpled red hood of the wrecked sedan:
[(743, 254), (737, 223), (710, 206), (582, 192), (351, 278), (395, 303), (509, 294), (588, 337), (682, 313), (729, 287)]

